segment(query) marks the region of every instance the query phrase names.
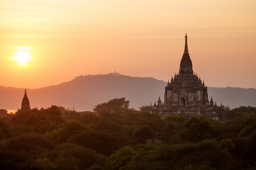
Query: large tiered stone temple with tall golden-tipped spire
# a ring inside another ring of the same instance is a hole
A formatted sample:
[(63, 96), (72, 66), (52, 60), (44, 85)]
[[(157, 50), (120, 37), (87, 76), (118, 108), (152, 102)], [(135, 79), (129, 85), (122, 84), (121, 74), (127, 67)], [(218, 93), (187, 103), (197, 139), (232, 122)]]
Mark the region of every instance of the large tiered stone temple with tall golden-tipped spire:
[(207, 86), (197, 74), (193, 73), (192, 61), (188, 53), (187, 33), (185, 35), (185, 49), (180, 61), (179, 74), (171, 78), (164, 90), (164, 101), (160, 96), (157, 104), (151, 104), (150, 112), (158, 113), (162, 117), (169, 114), (183, 113), (188, 116), (206, 116), (214, 120), (225, 120), (221, 107), (218, 107), (211, 97), (208, 100)]

